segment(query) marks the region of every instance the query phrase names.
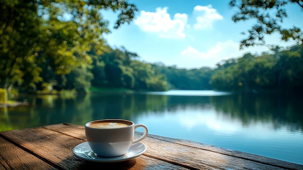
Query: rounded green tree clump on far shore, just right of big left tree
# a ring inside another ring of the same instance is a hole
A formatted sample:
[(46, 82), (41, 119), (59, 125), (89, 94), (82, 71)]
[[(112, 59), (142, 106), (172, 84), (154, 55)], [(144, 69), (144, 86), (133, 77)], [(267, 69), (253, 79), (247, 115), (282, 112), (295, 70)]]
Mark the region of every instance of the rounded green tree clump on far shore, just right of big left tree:
[(124, 47), (108, 48), (105, 54), (93, 57), (92, 86), (144, 91), (168, 90), (166, 77), (157, 72), (152, 64), (138, 61), (139, 56)]

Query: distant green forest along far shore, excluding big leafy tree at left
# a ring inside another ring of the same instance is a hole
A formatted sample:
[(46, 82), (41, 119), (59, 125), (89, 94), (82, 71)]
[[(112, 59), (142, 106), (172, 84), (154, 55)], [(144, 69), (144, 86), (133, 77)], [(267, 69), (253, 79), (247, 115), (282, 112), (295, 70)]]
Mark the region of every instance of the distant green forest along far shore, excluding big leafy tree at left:
[[(47, 65), (37, 91), (72, 90), (89, 92), (98, 88), (123, 88), (135, 91), (222, 90), (222, 91), (302, 91), (303, 46), (272, 53), (250, 53), (224, 60), (216, 68), (181, 69), (161, 62), (141, 62), (140, 56), (124, 47), (107, 46), (102, 55), (90, 52), (91, 64), (74, 67), (70, 74), (58, 75)], [(27, 86), (18, 88), (30, 92)]]

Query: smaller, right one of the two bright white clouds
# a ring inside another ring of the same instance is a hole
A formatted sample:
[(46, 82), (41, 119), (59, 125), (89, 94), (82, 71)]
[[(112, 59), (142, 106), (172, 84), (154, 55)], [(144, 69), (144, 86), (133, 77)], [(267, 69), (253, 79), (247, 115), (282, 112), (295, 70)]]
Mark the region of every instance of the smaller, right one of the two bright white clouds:
[(215, 20), (223, 19), (216, 9), (212, 8), (212, 5), (208, 6), (195, 6), (194, 15), (196, 17), (197, 23), (194, 25), (194, 29), (200, 30), (204, 28), (212, 28), (212, 23)]

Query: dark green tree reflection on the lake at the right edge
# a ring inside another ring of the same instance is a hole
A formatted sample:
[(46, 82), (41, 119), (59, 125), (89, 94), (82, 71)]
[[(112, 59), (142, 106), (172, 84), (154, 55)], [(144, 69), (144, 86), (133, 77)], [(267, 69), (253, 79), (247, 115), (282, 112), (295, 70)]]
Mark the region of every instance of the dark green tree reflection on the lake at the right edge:
[(216, 96), (211, 103), (217, 112), (240, 119), (244, 126), (257, 122), (271, 123), (274, 129), (303, 131), (302, 98), (287, 94), (242, 93)]

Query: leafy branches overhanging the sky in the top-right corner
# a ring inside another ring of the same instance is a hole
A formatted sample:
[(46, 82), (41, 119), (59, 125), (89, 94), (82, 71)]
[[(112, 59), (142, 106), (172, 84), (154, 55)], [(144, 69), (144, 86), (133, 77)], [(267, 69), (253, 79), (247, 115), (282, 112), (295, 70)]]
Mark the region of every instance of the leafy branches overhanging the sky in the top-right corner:
[(300, 28), (281, 26), (283, 19), (287, 17), (285, 6), (288, 3), (296, 3), (303, 9), (303, 0), (230, 0), (229, 6), (239, 10), (232, 16), (234, 22), (257, 20), (257, 23), (248, 30), (248, 37), (241, 41), (240, 48), (264, 45), (264, 35), (274, 32), (281, 35), (282, 41), (293, 39), (302, 44), (303, 32)]

